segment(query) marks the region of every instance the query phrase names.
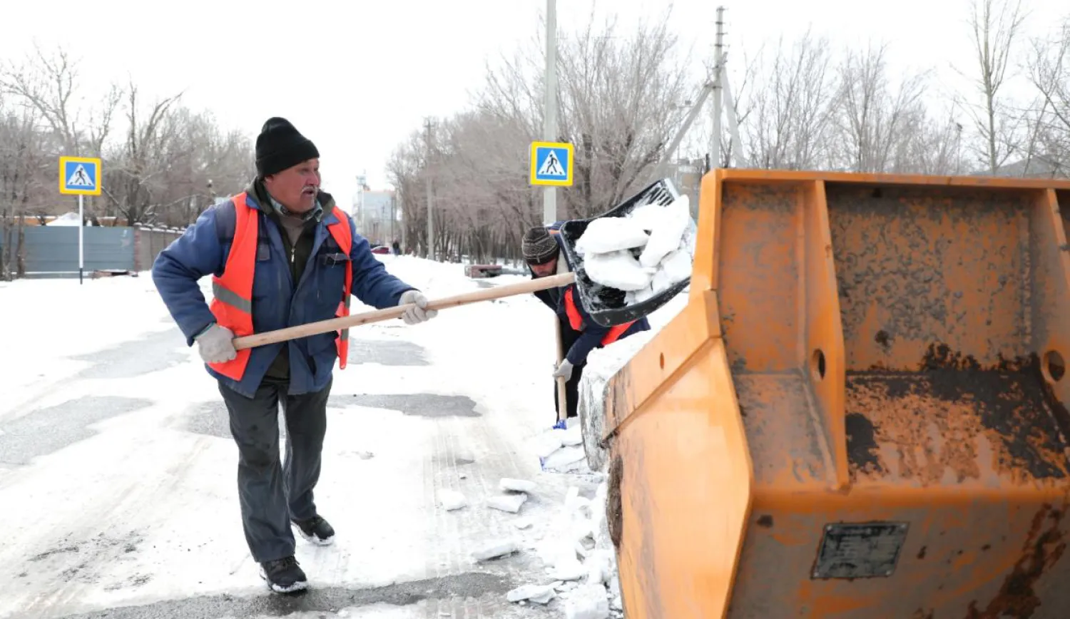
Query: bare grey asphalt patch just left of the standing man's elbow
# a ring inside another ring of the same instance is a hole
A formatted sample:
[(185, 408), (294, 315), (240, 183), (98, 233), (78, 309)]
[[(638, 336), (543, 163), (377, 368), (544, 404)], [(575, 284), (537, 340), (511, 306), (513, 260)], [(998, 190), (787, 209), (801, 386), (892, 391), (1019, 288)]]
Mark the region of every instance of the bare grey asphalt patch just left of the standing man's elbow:
[(133, 378), (185, 362), (188, 359), (183, 351), (185, 345), (182, 331), (170, 328), (71, 358), (92, 363), (77, 378)]

